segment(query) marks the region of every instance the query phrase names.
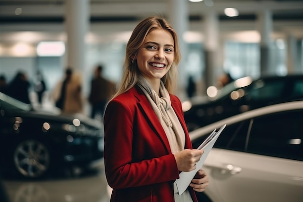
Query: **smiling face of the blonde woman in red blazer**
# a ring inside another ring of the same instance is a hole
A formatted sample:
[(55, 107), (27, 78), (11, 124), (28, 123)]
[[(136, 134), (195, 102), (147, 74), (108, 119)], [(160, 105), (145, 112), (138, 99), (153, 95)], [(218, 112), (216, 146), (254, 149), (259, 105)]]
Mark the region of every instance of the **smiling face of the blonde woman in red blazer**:
[(149, 83), (160, 83), (174, 61), (174, 39), (169, 31), (152, 30), (139, 48), (136, 58), (138, 68)]

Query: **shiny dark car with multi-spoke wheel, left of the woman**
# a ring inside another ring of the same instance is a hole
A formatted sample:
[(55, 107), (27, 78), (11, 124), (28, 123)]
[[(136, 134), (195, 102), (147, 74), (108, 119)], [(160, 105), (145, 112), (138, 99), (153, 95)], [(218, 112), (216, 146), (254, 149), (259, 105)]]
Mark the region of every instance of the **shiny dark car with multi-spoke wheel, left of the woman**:
[(0, 93), (0, 162), (4, 172), (41, 178), (62, 166), (89, 168), (103, 158), (101, 123), (84, 115), (35, 110)]

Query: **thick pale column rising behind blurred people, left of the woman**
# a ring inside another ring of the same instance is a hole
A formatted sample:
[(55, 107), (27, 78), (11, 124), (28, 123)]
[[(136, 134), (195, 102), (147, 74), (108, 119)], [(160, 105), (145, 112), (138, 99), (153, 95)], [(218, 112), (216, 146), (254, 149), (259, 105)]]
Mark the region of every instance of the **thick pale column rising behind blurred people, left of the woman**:
[(66, 65), (78, 71), (86, 67), (85, 36), (90, 20), (89, 6), (89, 0), (65, 0)]

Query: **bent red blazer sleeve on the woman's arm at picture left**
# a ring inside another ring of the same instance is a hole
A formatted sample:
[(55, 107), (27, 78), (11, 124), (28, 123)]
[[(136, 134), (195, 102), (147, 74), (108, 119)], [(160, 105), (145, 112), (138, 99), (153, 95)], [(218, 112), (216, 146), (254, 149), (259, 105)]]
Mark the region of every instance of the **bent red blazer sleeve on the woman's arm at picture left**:
[(134, 124), (137, 124), (136, 113), (139, 113), (136, 103), (131, 105), (122, 99), (114, 99), (106, 107), (104, 160), (106, 179), (112, 188), (146, 186), (179, 178), (173, 154), (133, 161), (132, 154), (136, 153), (136, 145), (132, 142)]

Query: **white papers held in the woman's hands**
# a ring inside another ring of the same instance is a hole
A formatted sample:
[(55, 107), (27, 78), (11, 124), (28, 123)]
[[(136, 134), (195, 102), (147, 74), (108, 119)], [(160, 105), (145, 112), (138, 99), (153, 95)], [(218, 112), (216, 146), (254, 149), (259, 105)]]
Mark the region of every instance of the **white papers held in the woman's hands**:
[(192, 179), (195, 177), (198, 170), (200, 170), (206, 160), (208, 154), (210, 153), (215, 141), (218, 139), (219, 135), (221, 134), (222, 130), (226, 127), (224, 124), (217, 132), (216, 129), (212, 131), (212, 133), (204, 140), (201, 145), (197, 149), (203, 149), (204, 153), (201, 156), (200, 160), (196, 164), (196, 169), (189, 172), (181, 172), (180, 178), (176, 180), (176, 185), (178, 188), (178, 193), (181, 195), (189, 186)]

